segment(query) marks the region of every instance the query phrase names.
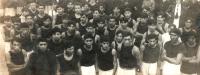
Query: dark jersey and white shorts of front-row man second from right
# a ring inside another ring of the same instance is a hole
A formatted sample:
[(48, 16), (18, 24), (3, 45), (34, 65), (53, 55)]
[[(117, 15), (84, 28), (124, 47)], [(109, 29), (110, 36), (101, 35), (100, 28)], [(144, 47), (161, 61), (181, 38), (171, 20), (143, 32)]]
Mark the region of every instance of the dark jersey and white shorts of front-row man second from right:
[[(166, 50), (166, 55), (169, 58), (176, 58), (178, 53), (185, 51), (185, 46), (183, 43), (178, 45), (173, 45), (171, 41), (168, 41), (164, 45)], [(180, 75), (180, 64), (172, 64), (170, 62), (164, 61), (163, 65), (163, 75)]]

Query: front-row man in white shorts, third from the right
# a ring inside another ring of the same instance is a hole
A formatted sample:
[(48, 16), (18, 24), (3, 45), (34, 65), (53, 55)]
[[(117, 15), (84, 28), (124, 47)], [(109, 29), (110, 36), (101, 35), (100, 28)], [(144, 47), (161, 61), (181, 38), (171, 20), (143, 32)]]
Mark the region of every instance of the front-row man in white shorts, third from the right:
[(158, 44), (158, 37), (155, 34), (148, 35), (147, 41), (144, 50), (141, 50), (143, 75), (160, 75), (162, 47)]

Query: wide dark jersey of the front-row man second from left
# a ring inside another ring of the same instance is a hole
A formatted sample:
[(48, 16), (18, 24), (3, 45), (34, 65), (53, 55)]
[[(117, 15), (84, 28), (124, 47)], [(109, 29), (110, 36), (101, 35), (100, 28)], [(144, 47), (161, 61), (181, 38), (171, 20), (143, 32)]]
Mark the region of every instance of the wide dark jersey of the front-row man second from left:
[(56, 75), (56, 56), (50, 51), (30, 55), (28, 69), (31, 75)]

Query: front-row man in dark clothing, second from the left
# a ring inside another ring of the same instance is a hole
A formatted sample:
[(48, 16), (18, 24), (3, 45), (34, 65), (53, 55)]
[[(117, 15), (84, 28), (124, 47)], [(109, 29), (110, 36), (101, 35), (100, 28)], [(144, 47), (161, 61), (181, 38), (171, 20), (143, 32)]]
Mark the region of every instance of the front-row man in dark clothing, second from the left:
[(53, 52), (48, 49), (46, 39), (38, 39), (35, 51), (30, 55), (27, 68), (30, 75), (56, 75), (57, 60)]

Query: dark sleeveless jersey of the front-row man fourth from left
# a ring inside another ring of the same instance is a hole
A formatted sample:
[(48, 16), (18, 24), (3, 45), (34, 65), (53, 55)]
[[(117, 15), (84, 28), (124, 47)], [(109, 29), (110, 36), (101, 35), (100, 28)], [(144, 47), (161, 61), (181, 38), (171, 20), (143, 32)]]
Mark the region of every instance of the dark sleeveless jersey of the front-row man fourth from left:
[(93, 49), (91, 51), (88, 51), (84, 48), (84, 46), (81, 47), (82, 50), (82, 56), (81, 56), (81, 66), (92, 66), (95, 64), (95, 58), (96, 58), (96, 46), (93, 45)]

